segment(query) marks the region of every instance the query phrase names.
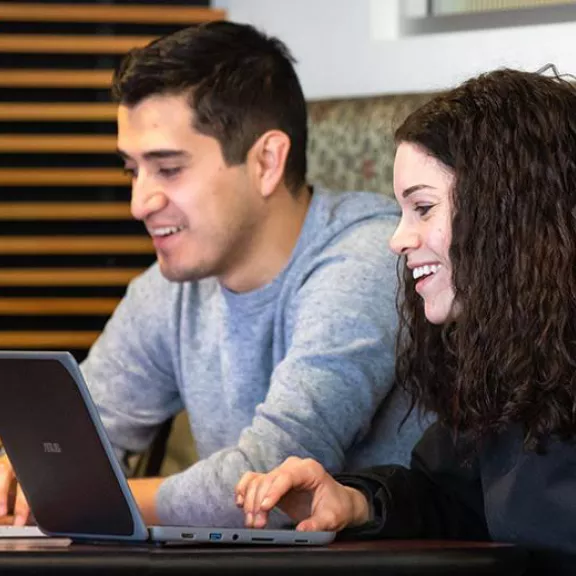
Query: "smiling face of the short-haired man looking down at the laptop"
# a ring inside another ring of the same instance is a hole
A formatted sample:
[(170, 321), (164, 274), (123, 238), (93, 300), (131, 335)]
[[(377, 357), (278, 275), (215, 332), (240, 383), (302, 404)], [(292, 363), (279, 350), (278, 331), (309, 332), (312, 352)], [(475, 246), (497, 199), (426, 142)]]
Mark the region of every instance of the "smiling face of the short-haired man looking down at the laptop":
[(184, 95), (118, 110), (132, 215), (152, 236), (162, 274), (177, 282), (232, 275), (249, 254), (262, 207), (247, 166), (227, 166), (218, 141), (192, 124)]

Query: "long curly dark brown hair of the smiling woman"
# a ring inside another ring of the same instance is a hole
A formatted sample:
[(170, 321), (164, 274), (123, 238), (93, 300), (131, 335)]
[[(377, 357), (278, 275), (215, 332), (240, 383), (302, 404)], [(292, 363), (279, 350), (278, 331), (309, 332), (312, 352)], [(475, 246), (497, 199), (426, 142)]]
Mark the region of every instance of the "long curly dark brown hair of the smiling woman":
[(520, 424), (540, 449), (576, 432), (576, 88), (499, 70), (437, 96), (396, 141), (455, 175), (459, 315), (428, 323), (401, 261), (397, 378), (413, 403), (480, 440)]

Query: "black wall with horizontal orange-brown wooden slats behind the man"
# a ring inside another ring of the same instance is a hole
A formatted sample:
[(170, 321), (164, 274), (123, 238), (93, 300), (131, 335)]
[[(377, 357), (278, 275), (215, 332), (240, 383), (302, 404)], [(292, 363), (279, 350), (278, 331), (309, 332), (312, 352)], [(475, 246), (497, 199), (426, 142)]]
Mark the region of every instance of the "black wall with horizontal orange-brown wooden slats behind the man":
[(0, 2), (0, 348), (79, 359), (154, 261), (116, 158), (122, 54), (224, 18), (205, 2)]

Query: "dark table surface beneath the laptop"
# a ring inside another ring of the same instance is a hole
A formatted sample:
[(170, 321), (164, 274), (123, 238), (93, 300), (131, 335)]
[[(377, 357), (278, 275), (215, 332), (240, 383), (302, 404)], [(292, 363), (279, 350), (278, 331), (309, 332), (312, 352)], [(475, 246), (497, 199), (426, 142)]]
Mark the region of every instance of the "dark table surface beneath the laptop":
[(502, 574), (524, 573), (514, 546), (442, 541), (336, 542), (326, 547), (125, 546), (0, 540), (0, 574)]

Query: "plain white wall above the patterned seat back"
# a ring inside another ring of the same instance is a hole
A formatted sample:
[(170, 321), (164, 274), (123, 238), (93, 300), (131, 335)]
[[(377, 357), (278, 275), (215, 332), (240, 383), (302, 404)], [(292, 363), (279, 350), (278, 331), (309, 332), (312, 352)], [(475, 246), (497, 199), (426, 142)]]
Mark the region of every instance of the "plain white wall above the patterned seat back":
[(576, 22), (424, 36), (402, 34), (400, 6), (418, 0), (213, 0), (228, 18), (278, 36), (308, 99), (444, 89), (510, 66), (553, 62), (576, 73)]

